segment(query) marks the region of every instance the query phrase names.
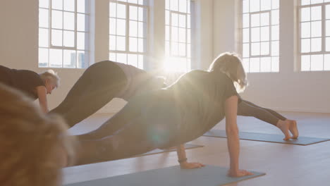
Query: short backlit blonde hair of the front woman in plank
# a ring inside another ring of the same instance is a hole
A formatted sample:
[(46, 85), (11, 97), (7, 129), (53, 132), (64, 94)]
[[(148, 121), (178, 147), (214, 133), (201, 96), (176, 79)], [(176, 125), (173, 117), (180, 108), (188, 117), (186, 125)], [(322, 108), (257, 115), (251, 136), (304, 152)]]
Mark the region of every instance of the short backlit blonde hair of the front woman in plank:
[(209, 66), (209, 72), (220, 71), (228, 75), (237, 92), (243, 92), (247, 86), (247, 77), (242, 61), (236, 53), (225, 52), (217, 56)]

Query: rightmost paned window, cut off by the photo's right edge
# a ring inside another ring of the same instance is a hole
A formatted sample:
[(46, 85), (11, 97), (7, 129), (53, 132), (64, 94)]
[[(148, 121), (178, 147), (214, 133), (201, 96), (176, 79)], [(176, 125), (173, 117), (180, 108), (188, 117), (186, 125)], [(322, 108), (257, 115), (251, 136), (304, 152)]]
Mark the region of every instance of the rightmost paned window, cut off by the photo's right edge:
[(300, 69), (330, 70), (330, 0), (301, 0), (299, 15)]

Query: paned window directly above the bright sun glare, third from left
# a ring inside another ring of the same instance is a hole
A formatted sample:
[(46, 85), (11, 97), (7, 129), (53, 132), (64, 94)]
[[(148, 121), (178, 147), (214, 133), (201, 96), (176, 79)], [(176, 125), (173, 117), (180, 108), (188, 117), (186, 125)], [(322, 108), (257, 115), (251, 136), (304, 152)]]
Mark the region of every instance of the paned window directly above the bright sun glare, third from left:
[(190, 0), (165, 1), (166, 70), (187, 72), (191, 68)]

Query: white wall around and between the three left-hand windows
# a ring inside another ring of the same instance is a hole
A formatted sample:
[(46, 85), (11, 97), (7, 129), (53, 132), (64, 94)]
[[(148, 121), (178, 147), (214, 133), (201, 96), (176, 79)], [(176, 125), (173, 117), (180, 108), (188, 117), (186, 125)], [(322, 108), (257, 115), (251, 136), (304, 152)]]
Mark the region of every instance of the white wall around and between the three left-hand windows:
[[(95, 43), (92, 44), (91, 51), (94, 51), (92, 61), (107, 60), (109, 55), (109, 20), (108, 0), (92, 0), (97, 11), (91, 15), (95, 18), (95, 29), (92, 29), (94, 35), (92, 38)], [(151, 23), (158, 24), (152, 31), (152, 38), (164, 40), (164, 15), (161, 15), (161, 6), (165, 6), (164, 2), (154, 0), (151, 8), (156, 16)], [(196, 11), (202, 16), (197, 17), (197, 35), (195, 39), (197, 47), (200, 51), (195, 54), (201, 66), (198, 68), (206, 68), (207, 66), (200, 61), (212, 60), (212, 0), (196, 0)], [(0, 65), (9, 68), (28, 69), (37, 73), (47, 70), (38, 68), (38, 0), (1, 0), (0, 1)], [(162, 19), (160, 21), (159, 19)], [(163, 27), (163, 28), (161, 28)], [(163, 36), (161, 36), (163, 35)], [(160, 39), (159, 39), (160, 38)], [(163, 42), (164, 43), (164, 42)], [(150, 61), (159, 61), (161, 52), (164, 52), (164, 46), (156, 42), (150, 45)], [(149, 67), (157, 67), (157, 64), (151, 64)], [(56, 89), (49, 99), (49, 109), (57, 106), (66, 96), (67, 92), (73, 84), (78, 80), (84, 69), (54, 69), (61, 77), (61, 87)], [(104, 106), (99, 112), (114, 113), (121, 109), (126, 102), (122, 99), (114, 99), (110, 104)]]

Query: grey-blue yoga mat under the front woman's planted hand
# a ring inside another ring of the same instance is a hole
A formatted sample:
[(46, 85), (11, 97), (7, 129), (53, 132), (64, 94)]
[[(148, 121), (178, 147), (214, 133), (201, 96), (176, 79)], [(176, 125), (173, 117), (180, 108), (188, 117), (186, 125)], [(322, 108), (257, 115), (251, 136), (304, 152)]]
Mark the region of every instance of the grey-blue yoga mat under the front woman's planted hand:
[(251, 171), (255, 175), (231, 178), (227, 176), (227, 171), (228, 168), (219, 166), (205, 166), (203, 168), (185, 170), (181, 169), (180, 166), (172, 166), (99, 180), (78, 182), (66, 186), (219, 186), (265, 175), (265, 173)]

